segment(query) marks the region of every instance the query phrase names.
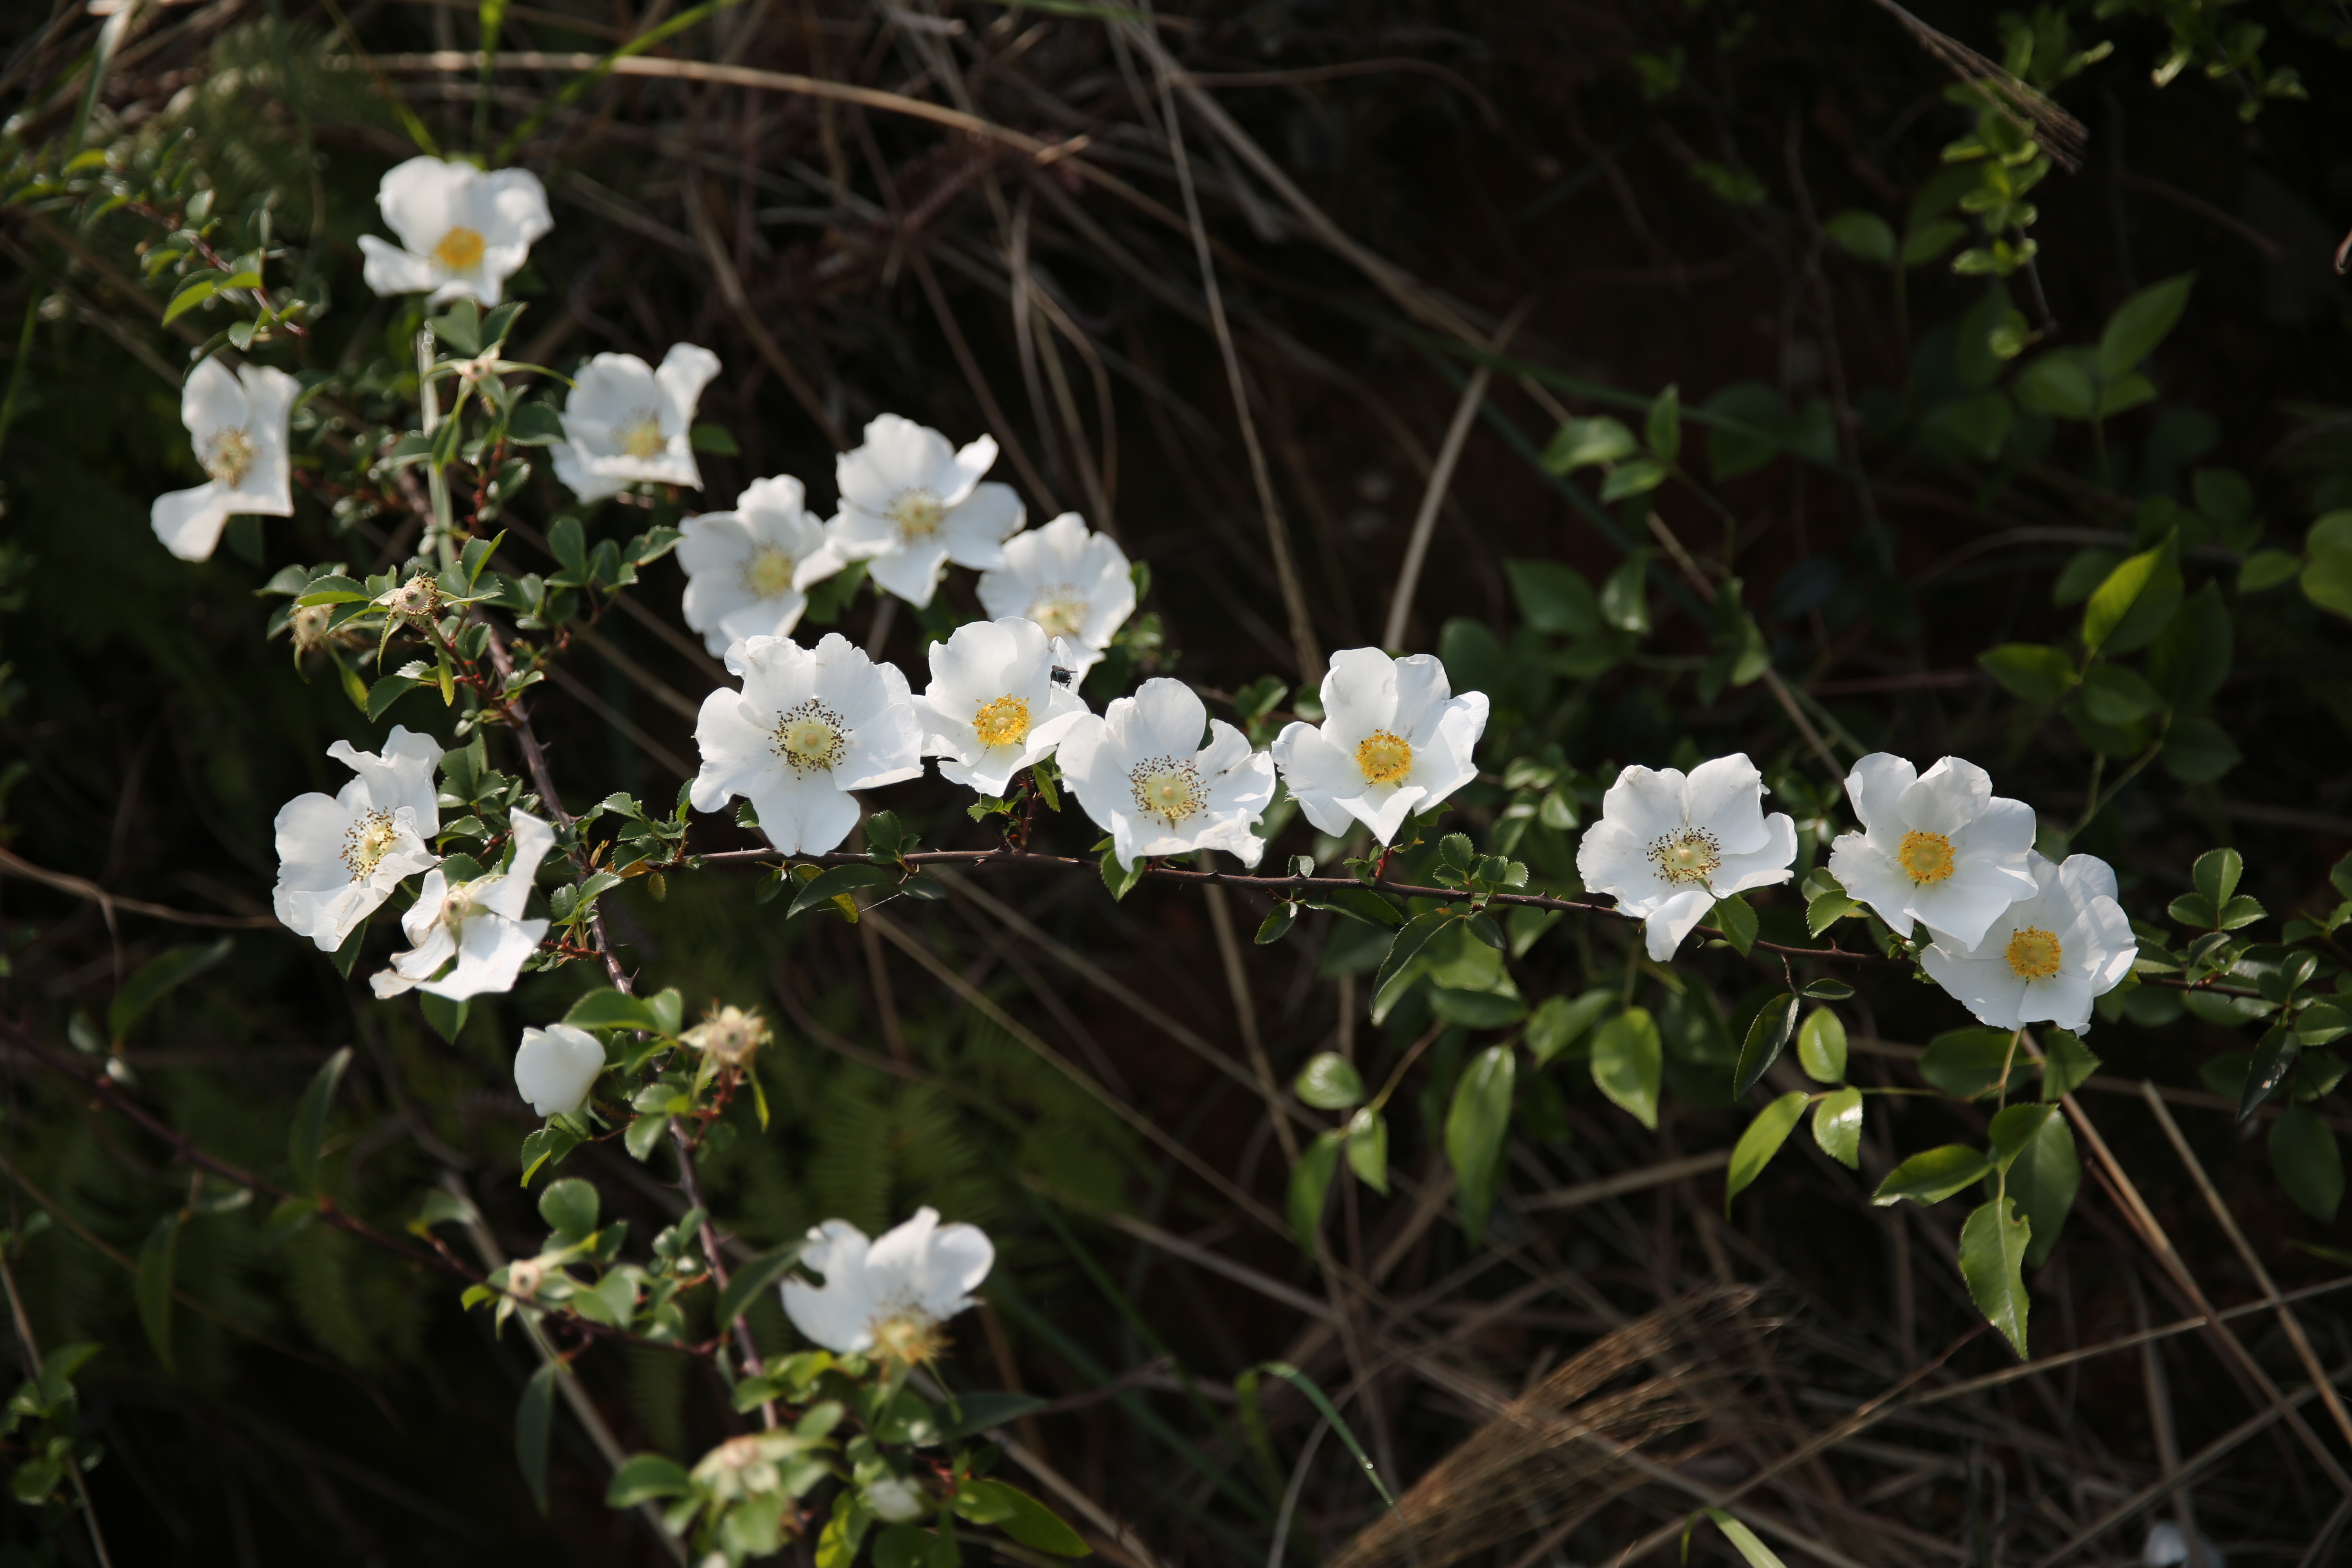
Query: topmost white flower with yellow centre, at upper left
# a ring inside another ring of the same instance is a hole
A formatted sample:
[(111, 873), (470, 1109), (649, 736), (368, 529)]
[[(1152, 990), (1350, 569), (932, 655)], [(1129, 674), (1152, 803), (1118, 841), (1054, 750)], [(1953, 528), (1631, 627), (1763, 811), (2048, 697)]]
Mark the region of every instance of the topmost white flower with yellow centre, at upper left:
[(376, 209), (400, 244), (360, 235), (367, 256), (360, 275), (376, 294), (430, 292), (428, 306), (452, 299), (496, 306), (532, 240), (555, 228), (548, 190), (529, 169), (482, 172), (440, 158), (412, 158), (386, 172)]

